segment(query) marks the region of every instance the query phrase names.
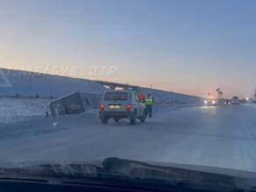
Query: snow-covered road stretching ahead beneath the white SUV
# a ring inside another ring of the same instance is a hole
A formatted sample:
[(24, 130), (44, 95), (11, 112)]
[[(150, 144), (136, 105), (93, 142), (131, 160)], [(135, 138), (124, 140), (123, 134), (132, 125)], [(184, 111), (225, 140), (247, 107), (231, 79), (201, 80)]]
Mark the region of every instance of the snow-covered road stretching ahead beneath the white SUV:
[[(16, 125), (0, 161), (91, 161), (121, 157), (256, 171), (256, 107), (157, 106), (153, 119), (101, 125), (94, 113)], [(17, 131), (18, 126), (23, 127)], [(8, 130), (5, 132), (8, 132)]]

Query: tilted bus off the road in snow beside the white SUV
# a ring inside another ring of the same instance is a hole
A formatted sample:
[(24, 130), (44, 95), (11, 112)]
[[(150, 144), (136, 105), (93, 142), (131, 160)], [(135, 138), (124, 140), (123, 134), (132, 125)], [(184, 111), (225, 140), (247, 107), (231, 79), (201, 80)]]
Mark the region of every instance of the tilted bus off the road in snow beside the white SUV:
[(102, 94), (72, 93), (67, 96), (54, 99), (50, 103), (53, 117), (64, 114), (83, 113), (86, 109), (96, 109), (102, 99)]

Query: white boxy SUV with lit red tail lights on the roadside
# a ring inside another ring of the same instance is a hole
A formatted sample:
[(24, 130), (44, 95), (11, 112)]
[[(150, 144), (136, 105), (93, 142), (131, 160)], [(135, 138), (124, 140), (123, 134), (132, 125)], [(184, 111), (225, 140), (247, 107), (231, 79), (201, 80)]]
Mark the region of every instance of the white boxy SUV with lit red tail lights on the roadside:
[(131, 125), (135, 125), (137, 119), (145, 122), (146, 105), (139, 100), (136, 92), (108, 91), (103, 94), (99, 115), (103, 124), (107, 124), (111, 118), (116, 122), (125, 118), (130, 120)]

